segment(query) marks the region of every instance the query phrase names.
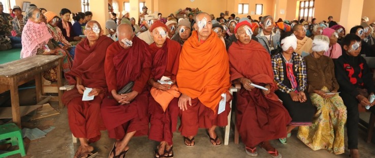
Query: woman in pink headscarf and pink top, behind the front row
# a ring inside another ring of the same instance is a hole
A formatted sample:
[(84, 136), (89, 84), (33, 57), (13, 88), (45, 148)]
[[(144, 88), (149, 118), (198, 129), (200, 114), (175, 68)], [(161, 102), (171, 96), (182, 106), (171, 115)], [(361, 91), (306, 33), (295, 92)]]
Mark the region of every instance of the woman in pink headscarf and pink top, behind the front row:
[(325, 28), (323, 29), (324, 36), (329, 38), (329, 49), (324, 52), (325, 56), (329, 56), (332, 59), (337, 59), (341, 56), (342, 50), (341, 46), (337, 43), (338, 34), (332, 28)]

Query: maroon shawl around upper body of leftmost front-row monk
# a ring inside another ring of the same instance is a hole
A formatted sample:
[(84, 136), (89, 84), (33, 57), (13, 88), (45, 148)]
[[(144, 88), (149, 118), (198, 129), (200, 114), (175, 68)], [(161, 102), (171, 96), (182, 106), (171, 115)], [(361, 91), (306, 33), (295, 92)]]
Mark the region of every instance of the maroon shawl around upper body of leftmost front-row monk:
[[(82, 85), (89, 88), (98, 88), (103, 92), (107, 91), (106, 76), (104, 73), (104, 59), (106, 50), (113, 40), (101, 36), (93, 46), (89, 46), (88, 40), (80, 42), (76, 46), (75, 57), (72, 69), (65, 73), (65, 78), (69, 84), (77, 84), (76, 77), (82, 79)], [(69, 103), (73, 98), (82, 96), (73, 90), (64, 93), (62, 101), (64, 104)]]

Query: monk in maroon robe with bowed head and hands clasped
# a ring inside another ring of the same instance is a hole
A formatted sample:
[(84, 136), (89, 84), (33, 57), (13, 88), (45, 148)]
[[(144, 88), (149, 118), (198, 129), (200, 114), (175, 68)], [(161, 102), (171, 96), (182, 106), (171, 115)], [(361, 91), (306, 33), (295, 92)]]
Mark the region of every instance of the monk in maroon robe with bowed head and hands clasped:
[[(151, 54), (147, 43), (135, 36), (129, 24), (117, 27), (118, 41), (111, 44), (104, 64), (108, 94), (101, 111), (110, 138), (117, 141), (109, 157), (122, 157), (129, 150), (133, 136), (148, 134), (148, 90)], [(118, 94), (129, 82), (134, 86), (129, 93)]]

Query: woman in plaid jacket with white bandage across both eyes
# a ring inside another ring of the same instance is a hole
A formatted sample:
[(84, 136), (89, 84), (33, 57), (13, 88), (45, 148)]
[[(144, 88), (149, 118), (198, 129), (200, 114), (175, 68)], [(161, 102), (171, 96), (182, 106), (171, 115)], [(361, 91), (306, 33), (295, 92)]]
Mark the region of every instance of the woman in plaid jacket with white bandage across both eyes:
[[(288, 137), (294, 128), (311, 125), (315, 112), (315, 107), (304, 92), (307, 83), (306, 64), (303, 57), (294, 52), (297, 48), (297, 38), (292, 34), (288, 32), (280, 37), (282, 51), (271, 59), (274, 82), (278, 86), (275, 93), (292, 117), (287, 126)], [(279, 140), (283, 144), (287, 143), (286, 138)]]

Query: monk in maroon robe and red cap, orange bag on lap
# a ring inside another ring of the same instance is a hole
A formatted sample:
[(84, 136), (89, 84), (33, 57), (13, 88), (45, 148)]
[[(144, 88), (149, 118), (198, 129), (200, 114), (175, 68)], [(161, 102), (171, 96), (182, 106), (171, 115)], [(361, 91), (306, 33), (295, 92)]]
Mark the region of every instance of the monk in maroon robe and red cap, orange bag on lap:
[[(155, 150), (155, 157), (173, 157), (173, 147), (172, 147), (172, 137), (173, 132), (177, 128), (177, 117), (179, 113), (178, 108), (178, 97), (179, 92), (174, 91), (177, 95), (170, 98), (162, 98), (162, 100), (167, 100), (170, 102), (168, 107), (164, 108), (161, 104), (155, 100), (159, 96), (153, 95), (157, 92), (167, 92), (171, 96), (171, 87), (176, 86), (176, 75), (178, 70), (179, 56), (181, 52), (181, 45), (172, 41), (168, 36), (168, 27), (160, 21), (156, 21), (150, 27), (151, 37), (153, 38), (154, 43), (150, 45), (153, 61), (151, 68), (150, 80), (148, 83), (151, 85), (151, 94), (149, 96), (149, 113), (151, 114), (150, 118), (150, 133), (148, 138), (151, 140), (159, 141), (160, 145), (158, 149)], [(158, 82), (162, 77), (168, 77), (173, 84), (162, 84)], [(163, 97), (163, 94), (160, 94), (160, 97)], [(156, 98), (156, 99), (154, 99)], [(172, 99), (172, 100), (171, 100)], [(164, 102), (161, 102), (162, 104)], [(165, 153), (165, 151), (167, 151)]]

